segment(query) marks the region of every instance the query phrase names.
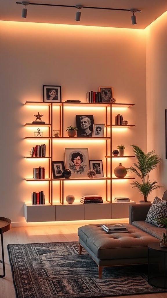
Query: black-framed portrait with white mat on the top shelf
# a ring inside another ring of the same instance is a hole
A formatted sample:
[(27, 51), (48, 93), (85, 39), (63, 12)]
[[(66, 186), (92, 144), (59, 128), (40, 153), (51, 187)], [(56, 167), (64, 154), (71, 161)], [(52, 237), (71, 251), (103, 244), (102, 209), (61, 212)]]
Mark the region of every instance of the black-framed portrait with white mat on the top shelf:
[(61, 103), (61, 86), (43, 86), (43, 101)]

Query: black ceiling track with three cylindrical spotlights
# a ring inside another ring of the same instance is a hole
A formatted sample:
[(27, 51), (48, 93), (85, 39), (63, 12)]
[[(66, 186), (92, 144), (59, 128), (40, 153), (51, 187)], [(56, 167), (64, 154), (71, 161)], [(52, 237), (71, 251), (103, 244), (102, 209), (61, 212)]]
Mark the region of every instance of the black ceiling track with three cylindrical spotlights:
[(122, 9), (122, 8), (109, 8), (109, 7), (91, 7), (91, 6), (83, 6), (83, 5), (61, 5), (61, 4), (44, 4), (44, 3), (30, 3), (30, 2), (16, 2), (16, 4), (22, 4), (25, 6), (25, 8), (22, 9), (22, 18), (26, 18), (27, 17), (27, 9), (26, 9), (26, 5), (43, 5), (43, 6), (56, 6), (56, 7), (75, 7), (78, 9), (78, 11), (76, 12), (76, 16), (75, 16), (75, 21), (80, 21), (81, 19), (81, 12), (79, 11), (81, 8), (87, 8), (87, 9), (101, 9), (101, 10), (120, 10), (120, 11), (130, 11), (131, 13), (133, 13), (133, 15), (131, 16), (131, 20), (132, 20), (132, 25), (137, 24), (136, 22), (136, 15), (134, 15), (134, 13), (136, 12), (141, 12), (141, 10), (138, 10), (136, 8), (131, 8), (131, 9)]

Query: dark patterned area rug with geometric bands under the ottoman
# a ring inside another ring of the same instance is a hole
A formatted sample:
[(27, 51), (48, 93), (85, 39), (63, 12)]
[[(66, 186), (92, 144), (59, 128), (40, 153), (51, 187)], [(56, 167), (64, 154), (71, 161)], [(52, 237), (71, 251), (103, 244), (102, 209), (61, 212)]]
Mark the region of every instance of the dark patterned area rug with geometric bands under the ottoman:
[(98, 267), (78, 242), (9, 244), (18, 298), (86, 298), (158, 293), (147, 283), (147, 266)]

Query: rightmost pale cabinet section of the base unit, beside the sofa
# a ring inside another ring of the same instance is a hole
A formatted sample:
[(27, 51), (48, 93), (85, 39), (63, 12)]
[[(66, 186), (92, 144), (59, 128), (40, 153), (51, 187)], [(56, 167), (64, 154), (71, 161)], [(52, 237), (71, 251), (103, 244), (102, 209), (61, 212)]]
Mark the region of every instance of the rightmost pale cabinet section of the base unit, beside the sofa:
[(129, 205), (136, 202), (112, 202), (112, 218), (129, 218)]

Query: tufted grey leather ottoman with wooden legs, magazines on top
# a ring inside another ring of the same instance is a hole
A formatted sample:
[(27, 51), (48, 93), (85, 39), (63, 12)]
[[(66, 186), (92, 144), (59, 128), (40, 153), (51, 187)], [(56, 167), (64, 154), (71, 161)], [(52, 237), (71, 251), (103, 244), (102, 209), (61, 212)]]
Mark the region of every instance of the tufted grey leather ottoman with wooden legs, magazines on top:
[(82, 248), (98, 265), (99, 279), (103, 267), (148, 263), (148, 243), (159, 239), (131, 224), (125, 224), (128, 232), (107, 234), (100, 226), (89, 224), (78, 228), (79, 254)]

